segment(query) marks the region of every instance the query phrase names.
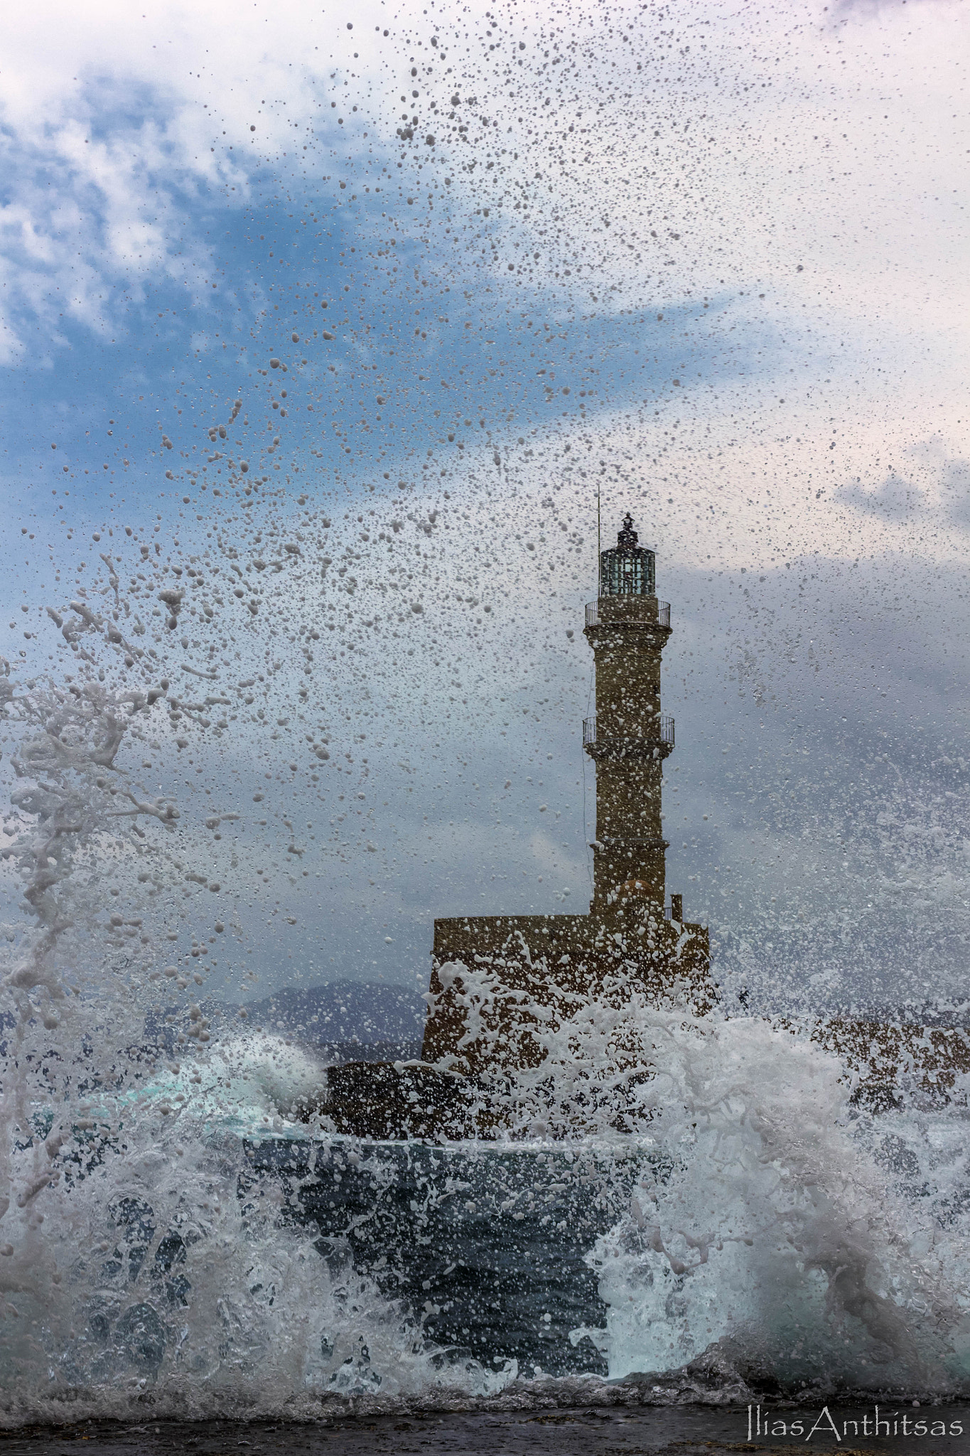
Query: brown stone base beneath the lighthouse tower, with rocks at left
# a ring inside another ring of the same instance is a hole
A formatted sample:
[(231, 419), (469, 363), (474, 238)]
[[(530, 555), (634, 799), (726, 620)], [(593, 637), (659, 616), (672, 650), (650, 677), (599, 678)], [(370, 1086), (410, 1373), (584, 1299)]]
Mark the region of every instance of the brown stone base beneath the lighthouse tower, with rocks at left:
[[(707, 927), (633, 897), (602, 916), (435, 920), (420, 1061), (333, 1067), (321, 1111), (356, 1137), (508, 1136), (516, 1079), (542, 1066), (560, 1026), (592, 1002), (622, 1012), (631, 996), (686, 1016), (711, 1010)], [(640, 1083), (652, 1073), (627, 1075)], [(573, 1133), (574, 1117), (545, 1127)]]

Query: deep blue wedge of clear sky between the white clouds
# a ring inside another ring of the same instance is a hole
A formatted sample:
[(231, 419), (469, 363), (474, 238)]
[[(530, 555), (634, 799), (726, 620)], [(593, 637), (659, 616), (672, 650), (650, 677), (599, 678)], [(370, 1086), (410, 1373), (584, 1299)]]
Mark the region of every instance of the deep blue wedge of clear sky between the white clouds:
[[(189, 199), (180, 202), (188, 210)], [(243, 395), (244, 408), (256, 409), (253, 399), (278, 379), (289, 384), (284, 448), (317, 462), (318, 485), (385, 469), (413, 475), (432, 435), (454, 446), (442, 451), (446, 466), (480, 440), (515, 451), (524, 430), (531, 444), (582, 428), (604, 409), (641, 415), (668, 406), (678, 389), (710, 390), (739, 374), (766, 379), (779, 348), (771, 319), (743, 320), (750, 333), (743, 349), (729, 339), (739, 300), (726, 293), (604, 314), (592, 296), (561, 297), (519, 280), (513, 287), (500, 274), (483, 281), (474, 266), (458, 271), (428, 237), (366, 208), (345, 215), (348, 205), (281, 202), (270, 194), (241, 210), (228, 204), (224, 215), (196, 211), (205, 266), (192, 259), (167, 269), (185, 277), (137, 287), (105, 282), (97, 331), (58, 312), (45, 347), (10, 368), (9, 483), (39, 492), (65, 475), (58, 483), (70, 489), (87, 469), (83, 510), (93, 518), (111, 494), (105, 488), (125, 472), (129, 499), (147, 492), (154, 501), (159, 425), (177, 434), (186, 409), (193, 424), (221, 424), (227, 402)], [(55, 294), (47, 297), (51, 310)], [(292, 379), (270, 374), (272, 358)], [(304, 414), (307, 400), (317, 418)], [(51, 444), (60, 453), (48, 459)]]

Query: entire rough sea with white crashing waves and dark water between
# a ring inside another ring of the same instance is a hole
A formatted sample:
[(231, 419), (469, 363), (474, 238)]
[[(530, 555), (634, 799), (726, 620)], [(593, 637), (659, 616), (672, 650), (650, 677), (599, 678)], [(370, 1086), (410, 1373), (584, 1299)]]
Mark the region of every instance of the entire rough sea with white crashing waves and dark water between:
[[(81, 1041), (95, 1012), (64, 1013)], [(595, 1399), (631, 1374), (672, 1398), (967, 1390), (966, 1108), (867, 1112), (790, 1028), (633, 996), (654, 1075), (631, 1133), (602, 1099), (572, 1139), (451, 1144), (295, 1120), (326, 1069), (282, 1038), (135, 1080), (42, 1029), (6, 1044), (7, 1421)], [(558, 1026), (541, 1099), (615, 1037), (596, 1006)]]

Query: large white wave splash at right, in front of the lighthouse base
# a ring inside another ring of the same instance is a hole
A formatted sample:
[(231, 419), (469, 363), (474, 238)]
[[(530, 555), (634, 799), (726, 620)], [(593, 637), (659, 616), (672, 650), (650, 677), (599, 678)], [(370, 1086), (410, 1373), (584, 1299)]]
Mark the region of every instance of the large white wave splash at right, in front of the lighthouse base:
[[(660, 1042), (652, 1131), (670, 1175), (596, 1248), (611, 1372), (714, 1348), (788, 1389), (819, 1372), (857, 1389), (961, 1389), (967, 1230), (941, 1214), (963, 1152), (913, 1197), (874, 1152), (919, 1147), (926, 1123), (857, 1115), (838, 1061), (763, 1022), (698, 1032), (668, 1025)], [(947, 1118), (926, 1121), (939, 1136)]]

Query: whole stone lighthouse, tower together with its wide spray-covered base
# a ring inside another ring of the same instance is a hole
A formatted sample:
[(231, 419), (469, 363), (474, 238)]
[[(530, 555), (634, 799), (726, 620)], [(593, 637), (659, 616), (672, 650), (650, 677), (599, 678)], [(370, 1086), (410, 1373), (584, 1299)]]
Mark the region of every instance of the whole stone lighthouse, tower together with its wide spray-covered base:
[(636, 996), (704, 1016), (717, 1000), (707, 926), (666, 901), (663, 764), (673, 719), (660, 708), (670, 607), (656, 558), (625, 517), (599, 553), (585, 636), (596, 712), (583, 748), (596, 764), (593, 895), (588, 914), (449, 916), (435, 920), (420, 1061), (349, 1063), (329, 1073), (329, 1112), (365, 1136), (496, 1136), (481, 1089), (541, 1067), (544, 1037), (593, 1002), (611, 1015)]

